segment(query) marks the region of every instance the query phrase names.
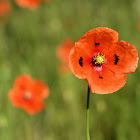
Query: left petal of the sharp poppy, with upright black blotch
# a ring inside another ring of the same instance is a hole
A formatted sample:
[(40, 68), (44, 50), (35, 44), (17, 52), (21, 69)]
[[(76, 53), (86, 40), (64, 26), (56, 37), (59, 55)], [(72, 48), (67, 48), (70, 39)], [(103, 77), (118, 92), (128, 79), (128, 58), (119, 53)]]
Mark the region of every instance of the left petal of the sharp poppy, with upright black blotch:
[(83, 44), (76, 42), (70, 51), (69, 64), (72, 72), (79, 79), (85, 79), (89, 69), (92, 68), (89, 66), (90, 58), (89, 50)]

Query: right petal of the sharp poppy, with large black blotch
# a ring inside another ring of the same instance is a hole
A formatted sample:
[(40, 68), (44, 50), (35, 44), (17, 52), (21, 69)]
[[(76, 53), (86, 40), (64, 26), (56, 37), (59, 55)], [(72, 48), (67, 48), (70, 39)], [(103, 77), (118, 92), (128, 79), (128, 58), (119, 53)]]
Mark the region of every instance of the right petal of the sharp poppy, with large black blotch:
[(108, 51), (107, 65), (116, 74), (132, 73), (138, 66), (138, 52), (130, 43), (118, 41)]

